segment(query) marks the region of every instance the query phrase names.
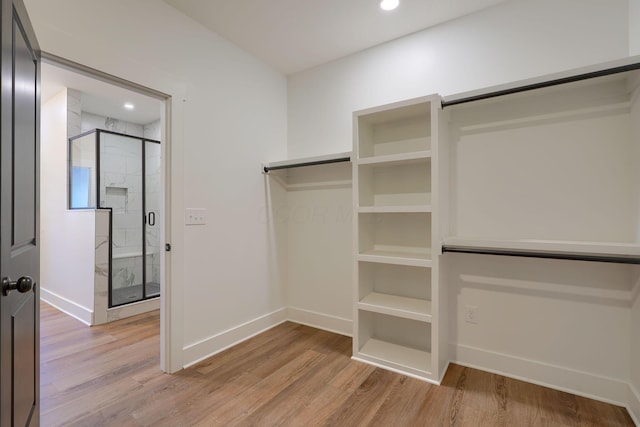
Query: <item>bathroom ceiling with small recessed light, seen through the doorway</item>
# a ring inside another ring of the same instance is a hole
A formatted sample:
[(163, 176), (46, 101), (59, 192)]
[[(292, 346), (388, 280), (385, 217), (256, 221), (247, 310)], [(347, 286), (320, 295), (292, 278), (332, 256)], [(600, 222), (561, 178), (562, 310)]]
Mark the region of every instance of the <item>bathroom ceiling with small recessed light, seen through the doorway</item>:
[[(162, 102), (137, 92), (123, 89), (46, 62), (42, 62), (42, 102), (57, 95), (64, 88), (82, 92), (82, 111), (146, 125), (160, 118)], [(124, 103), (135, 106), (132, 111)]]

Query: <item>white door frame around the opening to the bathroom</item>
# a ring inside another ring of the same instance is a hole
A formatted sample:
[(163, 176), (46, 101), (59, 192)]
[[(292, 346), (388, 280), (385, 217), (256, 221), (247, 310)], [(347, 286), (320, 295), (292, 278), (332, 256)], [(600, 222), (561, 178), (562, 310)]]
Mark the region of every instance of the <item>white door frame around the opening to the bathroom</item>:
[[(77, 62), (59, 57), (57, 55), (41, 51), (41, 61), (62, 68), (80, 75), (84, 75), (96, 80), (103, 81), (114, 86), (121, 87), (123, 89), (137, 92), (142, 95), (155, 98), (163, 103), (164, 108), (161, 111), (160, 123), (162, 126), (162, 138), (161, 138), (161, 155), (162, 155), (162, 172), (161, 172), (161, 185), (163, 195), (163, 213), (164, 219), (163, 227), (160, 231), (160, 241), (162, 244), (168, 245), (166, 249), (161, 251), (160, 257), (160, 270), (161, 270), (161, 287), (160, 287), (160, 369), (164, 372), (173, 373), (180, 369), (181, 366), (181, 354), (178, 353), (179, 340), (176, 337), (176, 333), (172, 331), (177, 330), (175, 314), (172, 316), (172, 302), (175, 304), (175, 298), (172, 295), (171, 286), (171, 183), (172, 183), (172, 168), (171, 168), (171, 151), (172, 151), (172, 100), (173, 97), (164, 92), (156, 89), (149, 88), (147, 86), (134, 83), (132, 81), (114, 76), (112, 74), (105, 73), (103, 71), (79, 64)], [(181, 314), (181, 312), (180, 312)]]

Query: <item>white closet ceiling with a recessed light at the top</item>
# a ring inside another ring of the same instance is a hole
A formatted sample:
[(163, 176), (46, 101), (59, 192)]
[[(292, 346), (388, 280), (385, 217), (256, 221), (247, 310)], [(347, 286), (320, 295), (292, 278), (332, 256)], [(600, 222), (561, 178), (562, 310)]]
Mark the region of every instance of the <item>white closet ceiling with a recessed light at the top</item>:
[(423, 30), (506, 0), (164, 0), (285, 74)]

